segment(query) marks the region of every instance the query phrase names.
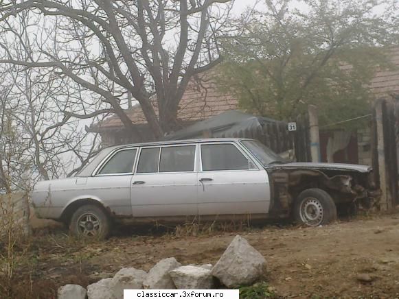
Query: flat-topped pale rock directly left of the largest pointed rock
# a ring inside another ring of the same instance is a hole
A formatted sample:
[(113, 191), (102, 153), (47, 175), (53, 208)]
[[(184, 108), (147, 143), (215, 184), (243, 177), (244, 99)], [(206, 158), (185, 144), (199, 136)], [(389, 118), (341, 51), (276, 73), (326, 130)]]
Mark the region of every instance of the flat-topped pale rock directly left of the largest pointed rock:
[(197, 266), (182, 266), (169, 272), (177, 289), (212, 289), (214, 277), (211, 270)]

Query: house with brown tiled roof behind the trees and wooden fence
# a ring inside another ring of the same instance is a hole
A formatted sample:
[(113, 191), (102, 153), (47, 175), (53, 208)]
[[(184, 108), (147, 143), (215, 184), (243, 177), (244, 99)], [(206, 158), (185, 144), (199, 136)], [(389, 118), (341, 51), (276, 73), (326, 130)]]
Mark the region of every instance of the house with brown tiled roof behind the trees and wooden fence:
[[(399, 94), (399, 48), (390, 49), (391, 61), (397, 70), (378, 70), (369, 83), (375, 98), (390, 97)], [(154, 103), (157, 112), (156, 103)], [(178, 111), (178, 123), (186, 128), (196, 121), (203, 121), (227, 110), (238, 110), (238, 99), (218, 90), (216, 80), (208, 73), (193, 77), (181, 99)], [(154, 139), (146, 125), (146, 119), (140, 106), (133, 106), (126, 111), (128, 117), (137, 125), (137, 130), (144, 136), (141, 141)], [(369, 117), (371, 120), (371, 117)], [(102, 145), (118, 145), (137, 142), (124, 129), (117, 116), (109, 117), (89, 128), (102, 136)], [(369, 126), (356, 132), (343, 130), (321, 130), (321, 160), (335, 163), (359, 163), (370, 165), (372, 154), (370, 147), (371, 130)]]

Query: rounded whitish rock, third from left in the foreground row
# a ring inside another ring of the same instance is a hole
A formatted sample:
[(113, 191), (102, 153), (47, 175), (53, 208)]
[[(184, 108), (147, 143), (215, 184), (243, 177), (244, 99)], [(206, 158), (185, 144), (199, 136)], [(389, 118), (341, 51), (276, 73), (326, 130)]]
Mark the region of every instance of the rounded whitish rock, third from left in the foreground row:
[(147, 272), (135, 268), (122, 268), (112, 278), (112, 291), (116, 298), (124, 297), (124, 289), (142, 289)]

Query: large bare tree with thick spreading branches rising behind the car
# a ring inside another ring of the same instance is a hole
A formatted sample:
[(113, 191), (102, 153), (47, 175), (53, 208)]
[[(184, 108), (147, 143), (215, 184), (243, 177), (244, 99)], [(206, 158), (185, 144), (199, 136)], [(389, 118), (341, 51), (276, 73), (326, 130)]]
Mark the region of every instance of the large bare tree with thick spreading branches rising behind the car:
[[(34, 16), (20, 31), (35, 45), (27, 60), (19, 60), (3, 44), (0, 62), (62, 73), (102, 104), (74, 117), (115, 112), (137, 134), (123, 109), (131, 93), (159, 137), (176, 125), (190, 77), (221, 61), (218, 37), (230, 9), (229, 0), (3, 1), (0, 21), (7, 28), (14, 16)], [(45, 29), (40, 36), (32, 24)]]

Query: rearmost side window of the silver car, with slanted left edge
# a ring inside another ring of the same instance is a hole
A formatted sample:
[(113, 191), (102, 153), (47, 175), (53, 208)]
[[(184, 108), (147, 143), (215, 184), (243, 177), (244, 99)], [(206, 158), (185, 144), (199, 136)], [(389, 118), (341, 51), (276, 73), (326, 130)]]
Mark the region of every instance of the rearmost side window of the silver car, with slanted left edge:
[(136, 149), (122, 150), (112, 156), (98, 174), (129, 174), (133, 172)]

